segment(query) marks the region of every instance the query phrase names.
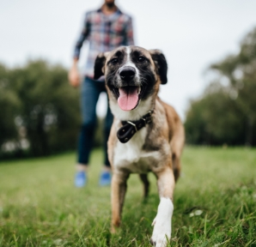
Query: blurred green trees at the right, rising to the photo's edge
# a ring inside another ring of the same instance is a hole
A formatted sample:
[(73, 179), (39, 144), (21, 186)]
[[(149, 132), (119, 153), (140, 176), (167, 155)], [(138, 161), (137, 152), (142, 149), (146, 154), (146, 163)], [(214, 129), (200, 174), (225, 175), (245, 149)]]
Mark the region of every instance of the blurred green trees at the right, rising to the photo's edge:
[(186, 113), (187, 142), (256, 145), (255, 51), (256, 28), (242, 40), (238, 54), (210, 66), (217, 77)]

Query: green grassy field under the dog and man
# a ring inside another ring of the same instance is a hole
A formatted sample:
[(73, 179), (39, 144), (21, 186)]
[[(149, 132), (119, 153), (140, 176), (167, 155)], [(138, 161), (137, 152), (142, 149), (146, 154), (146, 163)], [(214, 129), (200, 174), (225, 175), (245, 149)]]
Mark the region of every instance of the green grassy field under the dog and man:
[[(159, 198), (132, 175), (123, 223), (110, 228), (110, 188), (98, 186), (95, 150), (85, 188), (73, 186), (76, 154), (0, 163), (0, 246), (149, 246)], [(256, 246), (256, 150), (191, 148), (182, 157), (169, 246)]]

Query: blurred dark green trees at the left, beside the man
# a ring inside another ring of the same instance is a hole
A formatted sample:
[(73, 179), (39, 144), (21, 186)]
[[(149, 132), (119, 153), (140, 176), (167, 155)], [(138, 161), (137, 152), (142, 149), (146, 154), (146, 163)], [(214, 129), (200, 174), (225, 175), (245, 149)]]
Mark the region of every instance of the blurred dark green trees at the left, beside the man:
[[(76, 147), (80, 111), (77, 90), (67, 71), (43, 60), (15, 69), (0, 67), (0, 145), (21, 139), (30, 155), (46, 155)], [(3, 154), (2, 154), (3, 155)]]

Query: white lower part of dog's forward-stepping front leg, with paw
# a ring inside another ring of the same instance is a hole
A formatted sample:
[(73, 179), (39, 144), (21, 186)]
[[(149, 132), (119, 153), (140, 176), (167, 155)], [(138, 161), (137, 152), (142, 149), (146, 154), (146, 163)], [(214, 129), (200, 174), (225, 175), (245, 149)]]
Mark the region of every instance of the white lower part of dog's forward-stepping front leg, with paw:
[(172, 216), (174, 212), (174, 204), (168, 198), (161, 198), (157, 209), (153, 234), (150, 243), (155, 247), (165, 247), (168, 244), (168, 239), (171, 238), (172, 232)]

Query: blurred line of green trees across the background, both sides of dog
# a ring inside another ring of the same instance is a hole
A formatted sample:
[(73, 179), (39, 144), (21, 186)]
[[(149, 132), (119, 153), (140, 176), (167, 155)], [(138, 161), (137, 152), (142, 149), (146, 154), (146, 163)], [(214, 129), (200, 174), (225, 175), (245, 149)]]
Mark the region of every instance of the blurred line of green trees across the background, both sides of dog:
[[(186, 142), (256, 146), (256, 28), (237, 54), (208, 71), (214, 79), (186, 111)], [(62, 65), (38, 59), (10, 69), (0, 63), (0, 159), (74, 150), (79, 98)], [(96, 146), (102, 142), (99, 120)]]

